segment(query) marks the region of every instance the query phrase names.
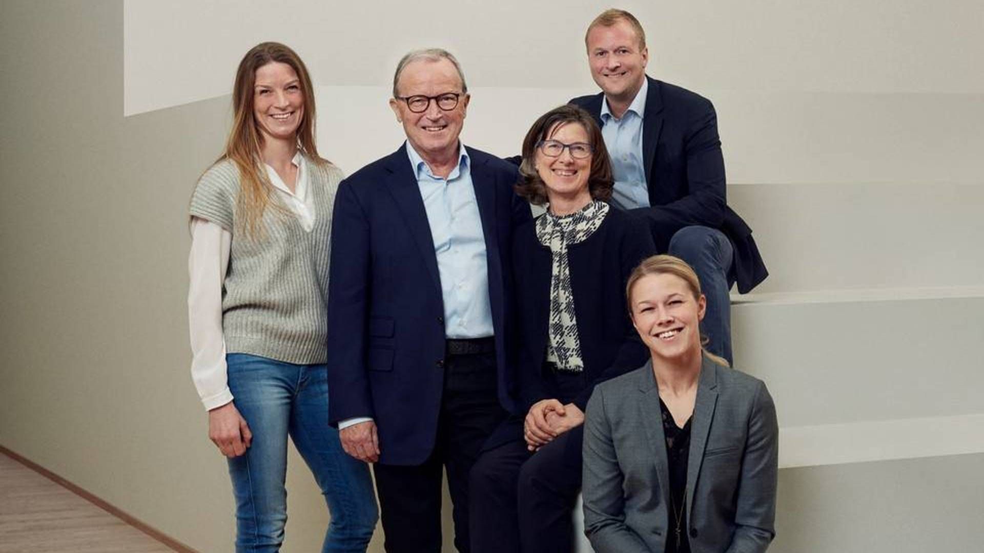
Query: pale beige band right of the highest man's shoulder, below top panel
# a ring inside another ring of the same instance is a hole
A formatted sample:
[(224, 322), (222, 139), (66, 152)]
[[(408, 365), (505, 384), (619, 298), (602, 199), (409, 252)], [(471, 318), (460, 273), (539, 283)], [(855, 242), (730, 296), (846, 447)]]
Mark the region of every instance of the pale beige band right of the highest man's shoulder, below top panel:
[(698, 90), (729, 183), (984, 186), (984, 93)]

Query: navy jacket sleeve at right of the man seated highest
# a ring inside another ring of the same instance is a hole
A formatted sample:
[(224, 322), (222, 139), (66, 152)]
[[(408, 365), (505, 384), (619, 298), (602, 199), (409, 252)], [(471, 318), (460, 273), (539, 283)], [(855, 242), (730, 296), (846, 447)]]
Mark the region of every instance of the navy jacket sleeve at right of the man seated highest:
[(673, 233), (684, 226), (721, 228), (724, 224), (727, 201), (717, 114), (707, 99), (701, 98), (699, 107), (687, 126), (679, 160), (686, 167), (687, 195), (669, 204), (635, 210), (648, 218), (659, 241), (666, 242), (657, 244), (661, 250), (666, 249)]

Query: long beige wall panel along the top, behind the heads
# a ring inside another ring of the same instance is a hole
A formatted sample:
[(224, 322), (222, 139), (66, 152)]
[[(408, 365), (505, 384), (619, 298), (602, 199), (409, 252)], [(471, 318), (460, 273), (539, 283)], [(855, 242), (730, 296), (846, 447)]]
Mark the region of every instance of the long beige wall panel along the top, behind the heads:
[[(242, 52), (261, 39), (293, 45), (321, 85), (385, 82), (404, 51), (439, 45), (461, 57), (475, 87), (585, 87), (584, 30), (605, 6), (286, 0), (272, 14), (260, 0), (125, 5), (127, 114), (226, 92)], [(646, 28), (653, 73), (698, 90), (984, 92), (973, 55), (984, 49), (978, 2), (629, 0), (620, 7)]]

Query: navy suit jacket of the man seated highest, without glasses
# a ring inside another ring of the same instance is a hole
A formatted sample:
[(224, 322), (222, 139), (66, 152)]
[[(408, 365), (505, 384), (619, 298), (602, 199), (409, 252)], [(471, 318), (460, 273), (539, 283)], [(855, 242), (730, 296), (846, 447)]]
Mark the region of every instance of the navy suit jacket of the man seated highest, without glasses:
[[(724, 232), (734, 246), (738, 290), (750, 291), (769, 272), (752, 238), (752, 229), (727, 206), (724, 157), (717, 135), (717, 114), (707, 98), (646, 77), (643, 159), (649, 208), (637, 210), (649, 220), (660, 251), (684, 226), (703, 225)], [(601, 126), (604, 93), (576, 97)]]

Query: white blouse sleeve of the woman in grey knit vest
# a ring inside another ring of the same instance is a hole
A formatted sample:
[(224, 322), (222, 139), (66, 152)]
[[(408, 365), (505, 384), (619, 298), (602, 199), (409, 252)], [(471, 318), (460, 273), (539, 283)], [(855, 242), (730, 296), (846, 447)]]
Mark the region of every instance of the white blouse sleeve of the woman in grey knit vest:
[(229, 265), (232, 234), (212, 221), (191, 217), (188, 256), (188, 330), (191, 377), (206, 409), (232, 400), (225, 374), (222, 336), (222, 282)]

